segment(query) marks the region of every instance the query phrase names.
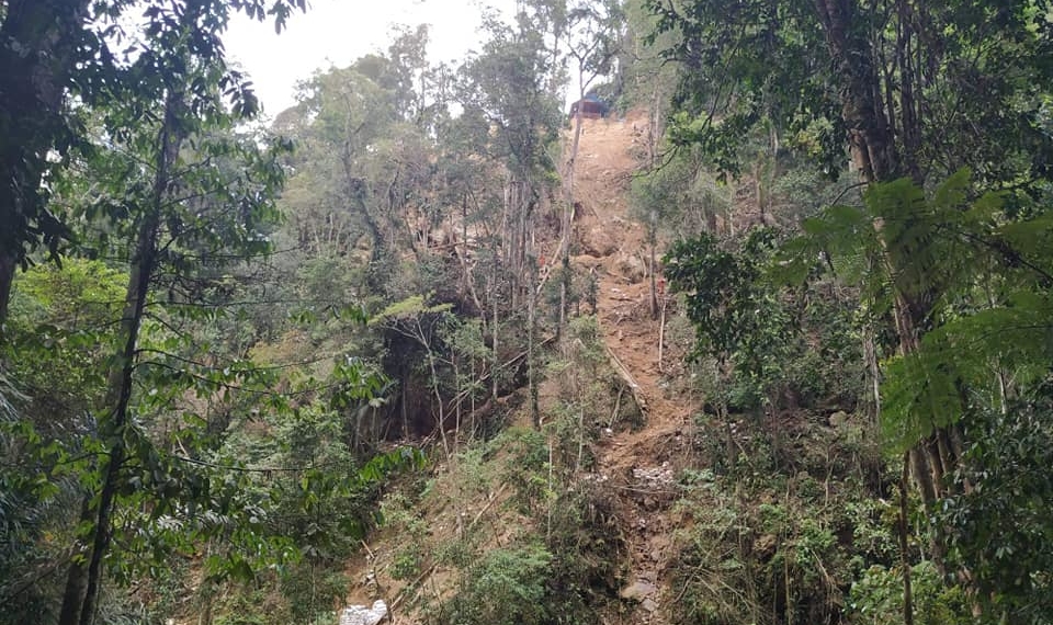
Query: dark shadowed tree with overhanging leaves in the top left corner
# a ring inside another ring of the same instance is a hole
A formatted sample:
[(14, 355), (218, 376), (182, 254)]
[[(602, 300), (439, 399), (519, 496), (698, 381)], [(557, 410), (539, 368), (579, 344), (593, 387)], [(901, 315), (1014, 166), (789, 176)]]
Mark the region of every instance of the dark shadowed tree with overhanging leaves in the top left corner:
[[(122, 16), (143, 8), (148, 38), (137, 49), (114, 50), (123, 33)], [(34, 259), (44, 246), (58, 258), (70, 235), (60, 215), (48, 205), (44, 181), (76, 152), (88, 149), (84, 128), (71, 110), (72, 95), (89, 106), (103, 105), (124, 87), (134, 92), (137, 77), (124, 71), (133, 50), (158, 60), (165, 48), (182, 36), (193, 41), (193, 57), (222, 68), (215, 78), (235, 106), (248, 113), (257, 107), (245, 77), (225, 65), (219, 35), (233, 12), (254, 19), (273, 16), (281, 31), (294, 9), (306, 0), (151, 0), (145, 5), (114, 0), (12, 0), (0, 9), (0, 325), (7, 318), (15, 270)], [(193, 20), (182, 18), (193, 15)], [(189, 32), (183, 32), (188, 29)], [(170, 58), (170, 57), (168, 57)], [(177, 71), (177, 67), (168, 68)], [(202, 91), (197, 83), (190, 89)], [(53, 155), (57, 155), (56, 159)]]

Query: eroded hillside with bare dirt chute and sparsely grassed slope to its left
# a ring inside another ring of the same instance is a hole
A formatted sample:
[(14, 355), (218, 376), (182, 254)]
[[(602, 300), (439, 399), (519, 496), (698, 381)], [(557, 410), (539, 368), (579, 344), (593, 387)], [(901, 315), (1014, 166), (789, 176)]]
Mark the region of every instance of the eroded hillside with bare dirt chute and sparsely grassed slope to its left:
[[(588, 386), (596, 395), (582, 396), (589, 406), (579, 407), (582, 413), (592, 414), (578, 422), (587, 431), (567, 435), (580, 445), (577, 459), (565, 463), (574, 467), (563, 476), (563, 486), (556, 486), (561, 478), (553, 477), (551, 466), (541, 467), (541, 478), (548, 470), (544, 486), (563, 488), (566, 493), (541, 495), (533, 502), (562, 505), (557, 501), (577, 501), (580, 496), (591, 519), (575, 521), (588, 526), (586, 530), (570, 530), (588, 537), (577, 543), (587, 554), (553, 556), (586, 561), (588, 575), (598, 578), (581, 580), (592, 588), (579, 591), (585, 601), (580, 607), (621, 623), (668, 622), (663, 606), (673, 599), (666, 579), (673, 555), (673, 477), (686, 465), (691, 445), (689, 418), (698, 405), (698, 398), (678, 383), (683, 349), (666, 328), (673, 303), (665, 293), (658, 298), (658, 314), (652, 315), (646, 232), (631, 214), (630, 185), (645, 151), (645, 125), (642, 114), (584, 121), (575, 172), (570, 264), (576, 284), (595, 285), (599, 331), (592, 337), (597, 340), (592, 346), (598, 354), (593, 354), (589, 372), (577, 373), (569, 385), (576, 393)], [(569, 132), (567, 139), (569, 144)], [(539, 248), (553, 254), (558, 240), (541, 240)], [(660, 275), (656, 283), (664, 291)], [(580, 302), (576, 309), (580, 315), (591, 312), (589, 305)], [(574, 352), (575, 348), (564, 346), (563, 351)], [(558, 353), (553, 360), (559, 360)], [(568, 388), (567, 375), (561, 371), (557, 363), (541, 388), (543, 422), (550, 425), (558, 419), (561, 394)], [(388, 497), (385, 527), (363, 542), (360, 558), (349, 568), (355, 580), (349, 604), (369, 605), (384, 599), (392, 606), (394, 623), (428, 622), (449, 611), (451, 601), (466, 591), (465, 570), (473, 562), (458, 561), (450, 552), (464, 549), (478, 556), (529, 542), (531, 536), (545, 539), (547, 535), (552, 541), (552, 534), (559, 531), (553, 525), (562, 526), (558, 513), (550, 509), (539, 519), (531, 501), (523, 505), (523, 488), (518, 482), (523, 476), (516, 467), (529, 445), (524, 439), (530, 438), (525, 408), (510, 419), (511, 435), (506, 432), (489, 444), (479, 443), (442, 462), (419, 499), (397, 493)], [(556, 431), (566, 434), (558, 424), (546, 429), (547, 434), (539, 434), (547, 445), (548, 457), (542, 461), (550, 464), (558, 464), (554, 459), (554, 454), (559, 454), (559, 443), (553, 441)], [(573, 441), (569, 447), (574, 456)], [(590, 459), (582, 462), (584, 456)], [(409, 490), (419, 487), (407, 486)], [(554, 566), (558, 568), (559, 562)]]

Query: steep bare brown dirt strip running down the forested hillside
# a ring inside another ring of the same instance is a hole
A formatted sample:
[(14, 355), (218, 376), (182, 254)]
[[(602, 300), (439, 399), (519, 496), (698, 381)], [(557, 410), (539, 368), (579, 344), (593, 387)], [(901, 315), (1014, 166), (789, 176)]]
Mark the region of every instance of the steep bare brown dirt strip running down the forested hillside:
[[(643, 152), (646, 117), (586, 120), (577, 159), (574, 263), (599, 279), (598, 316), (603, 340), (638, 385), (647, 410), (636, 430), (603, 442), (599, 473), (619, 492), (620, 521), (630, 545), (631, 575), (622, 595), (636, 600), (626, 623), (664, 623), (663, 573), (670, 552), (669, 508), (675, 476), (689, 448), (694, 407), (670, 398), (666, 378), (681, 353), (666, 350), (658, 363), (659, 321), (649, 307), (646, 232), (630, 218), (629, 192), (635, 155)], [(635, 154), (634, 154), (635, 152)], [(664, 373), (665, 372), (665, 373)]]

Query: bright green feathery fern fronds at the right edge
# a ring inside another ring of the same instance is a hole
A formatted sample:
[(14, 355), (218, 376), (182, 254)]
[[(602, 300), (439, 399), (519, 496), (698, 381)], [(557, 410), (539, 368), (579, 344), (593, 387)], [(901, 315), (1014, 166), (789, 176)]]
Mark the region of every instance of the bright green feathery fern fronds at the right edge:
[[(959, 420), (966, 401), (1004, 401), (998, 375), (1021, 386), (1053, 362), (1053, 214), (1010, 221), (998, 193), (976, 196), (961, 170), (931, 193), (908, 179), (874, 184), (863, 206), (831, 206), (782, 246), (778, 272), (831, 270), (880, 317), (921, 303), (917, 352), (888, 359), (882, 431), (903, 451)], [(1010, 389), (1011, 390), (1011, 389)]]

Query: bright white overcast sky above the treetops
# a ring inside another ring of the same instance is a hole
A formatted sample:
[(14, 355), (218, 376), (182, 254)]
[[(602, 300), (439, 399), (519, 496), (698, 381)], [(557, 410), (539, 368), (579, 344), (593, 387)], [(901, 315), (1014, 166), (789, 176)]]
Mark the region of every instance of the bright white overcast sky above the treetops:
[[(432, 63), (462, 59), (478, 49), (479, 0), (309, 0), (281, 35), (272, 22), (238, 16), (224, 36), (229, 60), (248, 71), (264, 113), (276, 115), (295, 103), (295, 84), (319, 68), (346, 67), (372, 52), (385, 52), (392, 26), (431, 25)], [(513, 0), (483, 5), (511, 12)]]

